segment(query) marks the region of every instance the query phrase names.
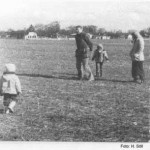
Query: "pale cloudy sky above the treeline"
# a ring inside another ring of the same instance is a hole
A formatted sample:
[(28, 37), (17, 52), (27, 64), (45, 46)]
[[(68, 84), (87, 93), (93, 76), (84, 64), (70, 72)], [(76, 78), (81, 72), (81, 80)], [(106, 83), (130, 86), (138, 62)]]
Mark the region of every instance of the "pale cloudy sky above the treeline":
[(106, 30), (150, 27), (150, 0), (0, 0), (0, 30), (59, 21)]

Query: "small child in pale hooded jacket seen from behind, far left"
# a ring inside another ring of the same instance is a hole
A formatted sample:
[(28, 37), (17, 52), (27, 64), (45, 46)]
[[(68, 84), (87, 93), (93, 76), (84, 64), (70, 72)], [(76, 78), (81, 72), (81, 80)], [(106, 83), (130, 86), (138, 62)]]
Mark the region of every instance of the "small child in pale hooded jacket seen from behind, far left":
[(13, 113), (18, 101), (17, 96), (21, 93), (20, 80), (15, 72), (16, 66), (14, 64), (6, 64), (0, 79), (0, 95), (4, 96), (3, 104), (6, 114)]

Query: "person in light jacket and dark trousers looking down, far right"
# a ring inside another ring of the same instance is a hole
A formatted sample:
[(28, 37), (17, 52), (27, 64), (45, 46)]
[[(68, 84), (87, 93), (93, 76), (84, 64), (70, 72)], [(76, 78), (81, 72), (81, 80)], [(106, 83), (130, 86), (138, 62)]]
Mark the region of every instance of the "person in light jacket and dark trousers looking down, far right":
[(133, 38), (133, 47), (130, 51), (130, 57), (132, 60), (132, 77), (134, 82), (138, 82), (138, 78), (140, 79), (140, 83), (144, 82), (144, 40), (139, 32), (132, 33)]

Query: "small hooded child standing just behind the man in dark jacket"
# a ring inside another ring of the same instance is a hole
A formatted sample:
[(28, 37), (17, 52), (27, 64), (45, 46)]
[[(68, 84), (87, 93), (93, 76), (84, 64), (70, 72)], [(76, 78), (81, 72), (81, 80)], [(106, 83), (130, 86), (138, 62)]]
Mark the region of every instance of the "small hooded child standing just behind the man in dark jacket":
[(96, 63), (96, 77), (102, 77), (102, 66), (105, 61), (108, 61), (108, 55), (102, 44), (97, 45), (97, 49), (94, 51), (92, 60)]

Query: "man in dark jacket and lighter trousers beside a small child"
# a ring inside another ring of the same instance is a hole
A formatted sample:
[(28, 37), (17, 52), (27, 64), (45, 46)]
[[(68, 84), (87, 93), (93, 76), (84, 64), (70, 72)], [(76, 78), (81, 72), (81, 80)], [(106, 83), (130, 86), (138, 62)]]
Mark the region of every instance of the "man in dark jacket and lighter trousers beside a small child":
[[(78, 79), (82, 80), (86, 75), (86, 78), (89, 81), (94, 80), (94, 76), (89, 66), (89, 57), (88, 57), (88, 49), (90, 51), (93, 50), (93, 43), (90, 41), (88, 35), (83, 32), (83, 28), (81, 26), (76, 27), (77, 34), (75, 36), (76, 40), (76, 68), (78, 71)], [(83, 71), (82, 71), (83, 66)], [(84, 75), (85, 73), (85, 75)]]

